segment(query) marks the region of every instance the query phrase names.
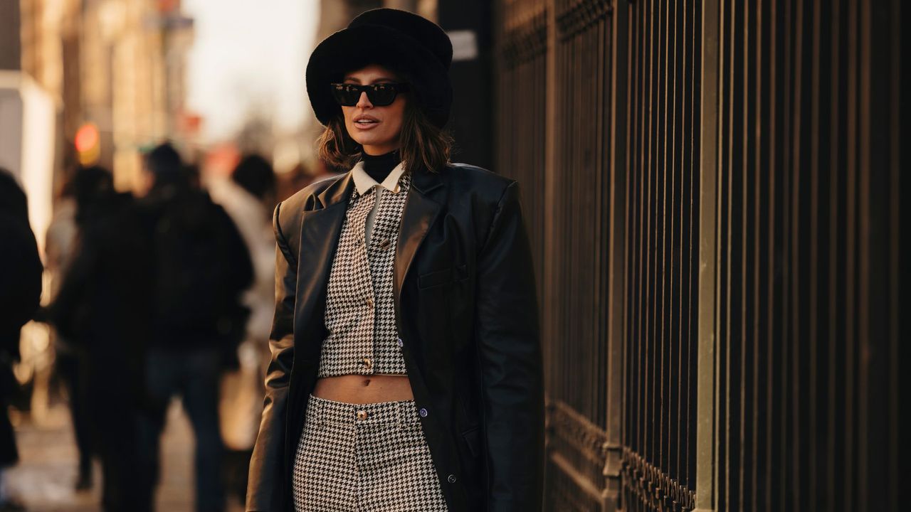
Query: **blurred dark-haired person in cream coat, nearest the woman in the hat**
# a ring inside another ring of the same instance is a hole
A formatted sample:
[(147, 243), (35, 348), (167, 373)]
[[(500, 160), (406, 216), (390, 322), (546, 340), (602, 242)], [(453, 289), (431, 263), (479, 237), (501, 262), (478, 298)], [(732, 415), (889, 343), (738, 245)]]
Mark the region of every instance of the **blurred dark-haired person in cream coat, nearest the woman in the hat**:
[(275, 239), (271, 210), (275, 207), (275, 173), (268, 160), (247, 155), (230, 179), (217, 179), (209, 187), (241, 231), (253, 263), (253, 284), (243, 303), (251, 310), (244, 341), (238, 348), (240, 367), (221, 381), (221, 434), (227, 448), (226, 483), (241, 505), (247, 496), (247, 472), (253, 443), (260, 427), (262, 379), (269, 363), (269, 331), (275, 298)]

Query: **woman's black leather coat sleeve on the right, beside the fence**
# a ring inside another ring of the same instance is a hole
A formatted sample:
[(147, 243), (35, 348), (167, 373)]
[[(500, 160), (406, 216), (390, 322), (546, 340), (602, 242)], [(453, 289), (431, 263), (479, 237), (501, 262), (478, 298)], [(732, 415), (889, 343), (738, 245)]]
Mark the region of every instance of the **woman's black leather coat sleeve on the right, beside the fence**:
[(544, 383), (535, 276), (518, 185), (503, 192), (477, 260), (488, 512), (541, 510)]

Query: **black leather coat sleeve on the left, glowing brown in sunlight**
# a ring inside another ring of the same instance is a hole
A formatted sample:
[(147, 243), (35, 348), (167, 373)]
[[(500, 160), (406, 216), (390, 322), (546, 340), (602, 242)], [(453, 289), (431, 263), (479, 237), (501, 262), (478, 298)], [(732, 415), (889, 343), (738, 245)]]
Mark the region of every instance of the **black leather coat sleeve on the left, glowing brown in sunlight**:
[(253, 447), (247, 486), (249, 512), (284, 510), (287, 475), (285, 461), (285, 415), (291, 370), (294, 361), (294, 294), (297, 284), (297, 259), (281, 232), (279, 210), (275, 208), (275, 315), (269, 336), (271, 361), (266, 370), (266, 395), (260, 433)]

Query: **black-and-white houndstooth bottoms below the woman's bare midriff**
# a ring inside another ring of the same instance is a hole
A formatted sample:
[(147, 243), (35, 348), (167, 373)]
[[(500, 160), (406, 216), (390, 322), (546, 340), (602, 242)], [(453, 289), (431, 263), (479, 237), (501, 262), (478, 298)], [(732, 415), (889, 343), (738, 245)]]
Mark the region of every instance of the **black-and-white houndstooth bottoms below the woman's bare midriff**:
[(292, 476), (297, 512), (447, 510), (414, 400), (310, 395)]

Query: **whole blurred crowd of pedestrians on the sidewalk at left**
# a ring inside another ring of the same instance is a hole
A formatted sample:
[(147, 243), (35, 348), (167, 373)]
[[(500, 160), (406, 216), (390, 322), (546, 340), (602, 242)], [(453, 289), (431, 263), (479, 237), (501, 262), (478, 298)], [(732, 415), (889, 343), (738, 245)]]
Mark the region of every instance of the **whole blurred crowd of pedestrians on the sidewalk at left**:
[[(269, 357), (274, 275), (271, 164), (242, 157), (230, 179), (199, 170), (163, 143), (143, 157), (142, 194), (119, 192), (110, 171), (79, 167), (46, 235), (50, 301), (26, 197), (3, 172), (0, 400), (15, 394), (19, 328), (53, 326), (55, 367), (78, 448), (77, 491), (102, 486), (105, 510), (151, 510), (159, 440), (175, 398), (195, 434), (198, 510), (242, 503)], [(9, 261), (7, 261), (9, 260)], [(27, 299), (27, 300), (26, 300)], [(0, 421), (0, 464), (15, 464)], [(102, 482), (93, 481), (93, 459)], [(5, 497), (0, 510), (24, 509)]]

